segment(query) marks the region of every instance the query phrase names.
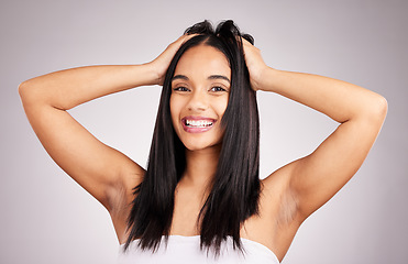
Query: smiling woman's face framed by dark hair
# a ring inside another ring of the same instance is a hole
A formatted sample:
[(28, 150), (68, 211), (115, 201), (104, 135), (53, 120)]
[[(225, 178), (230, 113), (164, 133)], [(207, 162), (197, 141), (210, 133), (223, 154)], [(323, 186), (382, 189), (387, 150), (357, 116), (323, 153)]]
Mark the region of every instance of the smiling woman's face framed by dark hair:
[(191, 47), (180, 57), (172, 79), (170, 112), (174, 129), (188, 150), (221, 143), (230, 81), (229, 62), (212, 46)]

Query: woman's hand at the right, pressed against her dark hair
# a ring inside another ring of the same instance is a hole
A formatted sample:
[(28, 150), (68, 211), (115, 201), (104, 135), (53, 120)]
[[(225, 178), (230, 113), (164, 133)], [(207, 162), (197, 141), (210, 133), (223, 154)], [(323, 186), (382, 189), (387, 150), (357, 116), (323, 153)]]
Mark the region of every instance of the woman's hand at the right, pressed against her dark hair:
[(252, 89), (262, 90), (263, 74), (269, 67), (264, 63), (261, 55), (261, 50), (252, 45), (245, 38), (242, 38), (244, 47), (245, 63), (250, 72), (250, 80)]

